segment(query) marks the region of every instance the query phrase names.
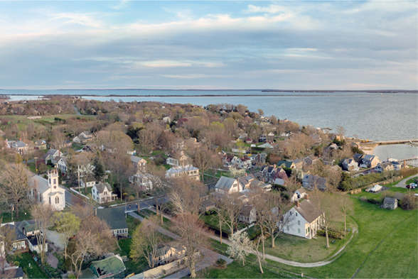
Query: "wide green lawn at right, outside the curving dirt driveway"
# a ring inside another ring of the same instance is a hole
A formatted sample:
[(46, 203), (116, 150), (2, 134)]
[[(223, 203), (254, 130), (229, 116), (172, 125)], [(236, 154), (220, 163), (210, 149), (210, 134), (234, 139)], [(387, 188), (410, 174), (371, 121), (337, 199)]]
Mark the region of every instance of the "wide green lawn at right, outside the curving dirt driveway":
[(317, 268), (267, 263), (314, 278), (351, 278), (365, 261), (355, 278), (418, 278), (417, 210), (380, 209), (360, 199), (353, 203), (359, 233), (336, 261)]

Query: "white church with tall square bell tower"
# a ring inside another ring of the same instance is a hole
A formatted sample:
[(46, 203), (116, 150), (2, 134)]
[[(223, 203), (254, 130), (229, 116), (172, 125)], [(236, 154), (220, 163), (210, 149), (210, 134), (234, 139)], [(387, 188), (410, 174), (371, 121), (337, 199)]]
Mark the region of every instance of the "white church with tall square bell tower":
[(29, 197), (43, 204), (52, 204), (55, 210), (63, 210), (65, 208), (65, 189), (58, 184), (58, 171), (48, 171), (48, 180), (33, 175), (28, 181), (31, 186)]

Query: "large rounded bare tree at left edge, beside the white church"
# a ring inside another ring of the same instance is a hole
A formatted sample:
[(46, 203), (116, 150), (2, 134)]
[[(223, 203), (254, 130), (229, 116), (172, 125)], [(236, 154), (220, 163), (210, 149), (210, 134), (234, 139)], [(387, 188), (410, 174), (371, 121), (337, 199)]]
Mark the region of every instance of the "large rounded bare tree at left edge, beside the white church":
[(16, 218), (19, 209), (28, 205), (28, 169), (23, 164), (10, 163), (4, 165), (0, 173), (0, 199), (14, 207)]

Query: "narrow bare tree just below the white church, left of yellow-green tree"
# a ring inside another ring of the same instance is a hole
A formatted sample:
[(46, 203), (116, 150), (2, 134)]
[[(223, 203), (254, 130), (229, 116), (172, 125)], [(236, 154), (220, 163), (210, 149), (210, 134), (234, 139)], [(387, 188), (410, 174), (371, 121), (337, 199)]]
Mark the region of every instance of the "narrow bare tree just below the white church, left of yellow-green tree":
[(35, 221), (36, 240), (40, 245), (41, 262), (45, 263), (45, 256), (48, 249), (46, 248), (46, 231), (53, 224), (54, 208), (50, 204), (35, 204), (32, 206), (31, 215)]

